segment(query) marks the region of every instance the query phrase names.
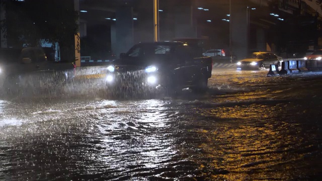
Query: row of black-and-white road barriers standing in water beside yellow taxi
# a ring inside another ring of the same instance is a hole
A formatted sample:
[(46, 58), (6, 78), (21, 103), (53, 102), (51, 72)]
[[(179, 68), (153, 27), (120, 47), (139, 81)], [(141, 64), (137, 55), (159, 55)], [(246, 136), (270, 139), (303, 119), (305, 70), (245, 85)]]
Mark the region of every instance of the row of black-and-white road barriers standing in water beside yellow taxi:
[(303, 58), (297, 58), (285, 61), (284, 59), (281, 65), (281, 70), (278, 69), (278, 65), (270, 65), (270, 70), (267, 75), (283, 75), (320, 70), (322, 70), (322, 60), (304, 60)]

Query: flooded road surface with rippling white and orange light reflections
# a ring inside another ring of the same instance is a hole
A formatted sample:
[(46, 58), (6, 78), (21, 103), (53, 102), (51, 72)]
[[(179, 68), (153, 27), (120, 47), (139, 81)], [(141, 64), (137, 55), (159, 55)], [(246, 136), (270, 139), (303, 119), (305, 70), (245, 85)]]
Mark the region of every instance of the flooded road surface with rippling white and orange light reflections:
[(216, 70), (176, 99), (5, 99), (0, 179), (319, 180), (322, 74), (266, 74)]

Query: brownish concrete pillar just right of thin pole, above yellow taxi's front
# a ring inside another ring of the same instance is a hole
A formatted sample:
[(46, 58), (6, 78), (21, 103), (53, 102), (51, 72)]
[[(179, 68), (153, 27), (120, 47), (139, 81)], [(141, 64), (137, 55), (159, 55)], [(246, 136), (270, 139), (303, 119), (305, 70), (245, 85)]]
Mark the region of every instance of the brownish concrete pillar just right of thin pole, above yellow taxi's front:
[(230, 43), (231, 52), (237, 59), (248, 55), (249, 9), (247, 1), (230, 0)]

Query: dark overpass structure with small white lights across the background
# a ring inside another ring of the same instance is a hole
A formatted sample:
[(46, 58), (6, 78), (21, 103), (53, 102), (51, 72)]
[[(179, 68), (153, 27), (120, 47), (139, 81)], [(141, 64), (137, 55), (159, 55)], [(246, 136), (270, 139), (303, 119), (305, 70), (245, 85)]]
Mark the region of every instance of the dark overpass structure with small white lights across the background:
[[(104, 24), (111, 50), (153, 41), (153, 0), (79, 1), (81, 37), (88, 27)], [(301, 11), (321, 11), (318, 0), (163, 0), (159, 2), (159, 39), (206, 37), (213, 48), (245, 57), (250, 49), (278, 51), (279, 28)], [(305, 10), (304, 8), (305, 7)], [(86, 55), (84, 55), (86, 56)]]

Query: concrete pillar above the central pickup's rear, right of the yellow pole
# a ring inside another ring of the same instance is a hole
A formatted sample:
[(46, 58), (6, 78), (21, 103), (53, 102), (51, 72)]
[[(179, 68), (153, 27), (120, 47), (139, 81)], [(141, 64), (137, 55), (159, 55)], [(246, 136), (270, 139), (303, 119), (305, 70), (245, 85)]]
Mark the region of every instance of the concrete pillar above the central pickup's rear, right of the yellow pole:
[(177, 0), (173, 8), (175, 38), (195, 38), (192, 0)]

